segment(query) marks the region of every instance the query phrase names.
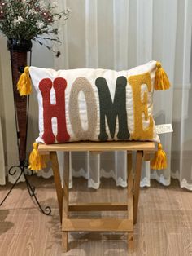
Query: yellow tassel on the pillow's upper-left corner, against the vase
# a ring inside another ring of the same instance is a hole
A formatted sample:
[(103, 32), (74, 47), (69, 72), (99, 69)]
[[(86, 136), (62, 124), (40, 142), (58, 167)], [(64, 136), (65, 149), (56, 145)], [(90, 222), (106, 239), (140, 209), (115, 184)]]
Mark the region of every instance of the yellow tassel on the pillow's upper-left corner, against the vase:
[(31, 79), (29, 77), (29, 67), (24, 68), (24, 73), (20, 75), (20, 79), (17, 83), (17, 90), (19, 90), (21, 96), (30, 95), (32, 91)]

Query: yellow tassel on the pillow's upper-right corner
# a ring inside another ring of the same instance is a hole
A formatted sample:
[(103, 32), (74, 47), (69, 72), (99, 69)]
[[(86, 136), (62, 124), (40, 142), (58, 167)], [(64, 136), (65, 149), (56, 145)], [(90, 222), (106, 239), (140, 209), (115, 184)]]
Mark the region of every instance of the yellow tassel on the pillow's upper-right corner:
[(168, 75), (165, 73), (164, 68), (157, 61), (156, 63), (156, 73), (155, 73), (155, 90), (167, 90), (170, 87), (170, 82), (168, 81)]

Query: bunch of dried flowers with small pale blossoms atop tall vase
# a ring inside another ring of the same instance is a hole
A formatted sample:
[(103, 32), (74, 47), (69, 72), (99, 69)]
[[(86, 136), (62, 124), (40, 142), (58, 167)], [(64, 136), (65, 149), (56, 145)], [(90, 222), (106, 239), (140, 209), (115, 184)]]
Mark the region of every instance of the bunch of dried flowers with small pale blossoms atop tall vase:
[(40, 0), (0, 0), (0, 31), (8, 39), (60, 42), (55, 24), (67, 20), (70, 10), (57, 11), (55, 3)]

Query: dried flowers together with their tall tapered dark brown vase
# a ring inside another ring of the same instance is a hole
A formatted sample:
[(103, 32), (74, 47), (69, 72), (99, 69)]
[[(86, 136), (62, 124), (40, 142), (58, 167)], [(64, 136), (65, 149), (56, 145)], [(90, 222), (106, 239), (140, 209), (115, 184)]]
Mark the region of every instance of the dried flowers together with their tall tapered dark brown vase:
[[(11, 53), (11, 69), (15, 100), (17, 134), (19, 136), (20, 162), (26, 158), (27, 97), (20, 97), (16, 84), (20, 72), (27, 65), (27, 52), (32, 49), (32, 41), (53, 50), (55, 42), (60, 42), (59, 20), (67, 20), (69, 9), (58, 11), (58, 7), (40, 0), (0, 0), (0, 31), (7, 37), (7, 48)], [(59, 51), (55, 51), (59, 56)]]

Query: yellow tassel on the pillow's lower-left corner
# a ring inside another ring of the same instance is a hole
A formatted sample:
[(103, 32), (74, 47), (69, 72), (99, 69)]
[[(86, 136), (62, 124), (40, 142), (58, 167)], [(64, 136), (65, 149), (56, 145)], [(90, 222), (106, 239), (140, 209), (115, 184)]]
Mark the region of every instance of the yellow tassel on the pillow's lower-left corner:
[(36, 171), (46, 168), (45, 158), (40, 155), (38, 145), (38, 143), (33, 143), (33, 151), (30, 153), (28, 166), (29, 169)]

